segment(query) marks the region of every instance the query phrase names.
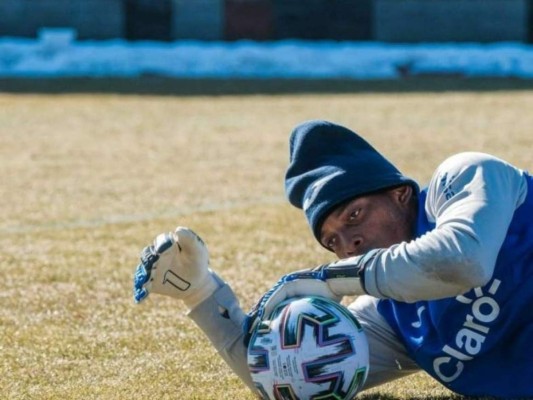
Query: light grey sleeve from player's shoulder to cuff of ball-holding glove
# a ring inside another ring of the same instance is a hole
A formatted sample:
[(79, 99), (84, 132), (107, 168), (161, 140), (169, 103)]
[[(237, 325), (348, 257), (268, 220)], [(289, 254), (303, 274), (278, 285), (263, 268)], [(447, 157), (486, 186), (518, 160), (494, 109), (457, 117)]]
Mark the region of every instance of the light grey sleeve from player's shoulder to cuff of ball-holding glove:
[(369, 294), (415, 302), (485, 284), (513, 214), (527, 195), (524, 174), (483, 153), (447, 159), (431, 178), (423, 205), (435, 228), (386, 249), (367, 266)]

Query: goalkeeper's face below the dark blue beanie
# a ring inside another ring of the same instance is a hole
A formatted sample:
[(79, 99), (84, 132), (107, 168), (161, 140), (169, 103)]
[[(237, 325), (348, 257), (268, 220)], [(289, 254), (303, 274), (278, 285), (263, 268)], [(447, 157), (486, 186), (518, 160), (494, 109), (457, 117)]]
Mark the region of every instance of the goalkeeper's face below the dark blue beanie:
[(337, 206), (324, 220), (320, 242), (339, 258), (412, 239), (416, 209), (410, 186), (364, 195)]

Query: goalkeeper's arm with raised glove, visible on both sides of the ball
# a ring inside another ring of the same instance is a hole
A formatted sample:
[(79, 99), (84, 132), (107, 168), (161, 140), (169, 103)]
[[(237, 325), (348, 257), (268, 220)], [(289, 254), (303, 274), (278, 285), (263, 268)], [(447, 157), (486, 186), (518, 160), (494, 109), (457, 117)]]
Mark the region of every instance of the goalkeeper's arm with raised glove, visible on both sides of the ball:
[[(336, 298), (325, 287), (320, 288), (319, 283), (314, 287), (317, 293)], [(253, 318), (242, 311), (230, 286), (209, 268), (209, 254), (198, 235), (182, 227), (173, 233), (158, 235), (154, 243), (142, 251), (133, 289), (136, 303), (145, 301), (152, 293), (182, 300), (190, 310), (188, 316), (228, 366), (256, 392), (248, 370), (244, 340), (248, 333), (244, 327), (249, 328)], [(418, 367), (379, 315), (375, 304), (363, 298), (358, 300), (361, 301), (354, 303), (350, 311), (365, 326), (372, 349), (367, 388), (416, 372)]]

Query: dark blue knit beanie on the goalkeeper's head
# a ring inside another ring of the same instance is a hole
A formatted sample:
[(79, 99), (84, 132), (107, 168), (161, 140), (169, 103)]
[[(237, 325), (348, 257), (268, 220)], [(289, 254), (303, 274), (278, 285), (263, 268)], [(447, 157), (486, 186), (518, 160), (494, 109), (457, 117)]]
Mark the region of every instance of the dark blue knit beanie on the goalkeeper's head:
[(319, 242), (322, 222), (337, 205), (402, 184), (419, 191), (415, 181), (343, 126), (307, 121), (292, 132), (285, 192), (292, 205), (303, 209)]

